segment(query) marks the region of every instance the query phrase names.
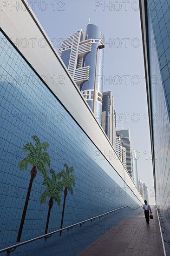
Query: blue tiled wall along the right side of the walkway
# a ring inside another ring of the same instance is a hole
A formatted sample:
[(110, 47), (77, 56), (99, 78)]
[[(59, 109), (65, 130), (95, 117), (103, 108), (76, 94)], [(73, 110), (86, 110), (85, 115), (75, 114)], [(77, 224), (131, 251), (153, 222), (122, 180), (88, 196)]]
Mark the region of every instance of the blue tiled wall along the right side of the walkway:
[(155, 200), (163, 239), (170, 241), (170, 1), (139, 0), (139, 6)]

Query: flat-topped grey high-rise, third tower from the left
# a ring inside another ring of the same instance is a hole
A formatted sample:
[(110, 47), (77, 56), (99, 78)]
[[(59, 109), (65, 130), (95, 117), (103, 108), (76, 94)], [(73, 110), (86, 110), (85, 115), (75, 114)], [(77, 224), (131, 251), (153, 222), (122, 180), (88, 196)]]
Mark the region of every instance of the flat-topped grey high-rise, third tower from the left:
[(132, 180), (134, 180), (133, 176), (133, 155), (132, 155), (132, 143), (130, 137), (129, 129), (118, 129), (118, 133), (122, 134), (121, 138), (121, 146), (126, 148), (126, 168), (128, 173), (130, 174)]

